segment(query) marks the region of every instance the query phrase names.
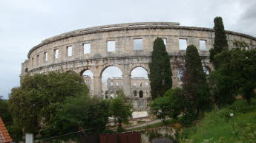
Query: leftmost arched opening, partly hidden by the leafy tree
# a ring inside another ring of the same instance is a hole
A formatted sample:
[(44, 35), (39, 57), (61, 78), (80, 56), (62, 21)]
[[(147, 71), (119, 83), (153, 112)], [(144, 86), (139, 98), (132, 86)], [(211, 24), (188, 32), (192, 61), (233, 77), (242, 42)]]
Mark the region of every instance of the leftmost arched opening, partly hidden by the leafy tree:
[(85, 84), (88, 87), (90, 94), (93, 95), (93, 72), (90, 70), (81, 71), (80, 75), (85, 80)]

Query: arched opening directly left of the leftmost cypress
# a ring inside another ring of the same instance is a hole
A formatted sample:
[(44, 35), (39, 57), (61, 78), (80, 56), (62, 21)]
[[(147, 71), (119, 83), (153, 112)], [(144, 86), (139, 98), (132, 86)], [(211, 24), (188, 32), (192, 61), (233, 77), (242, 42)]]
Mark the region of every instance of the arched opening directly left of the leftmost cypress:
[(139, 91), (139, 97), (143, 97), (143, 91), (148, 91), (145, 94), (146, 97), (150, 97), (150, 81), (148, 79), (148, 71), (142, 67), (136, 67), (131, 71), (131, 91), (134, 92), (134, 97), (137, 97), (137, 91)]

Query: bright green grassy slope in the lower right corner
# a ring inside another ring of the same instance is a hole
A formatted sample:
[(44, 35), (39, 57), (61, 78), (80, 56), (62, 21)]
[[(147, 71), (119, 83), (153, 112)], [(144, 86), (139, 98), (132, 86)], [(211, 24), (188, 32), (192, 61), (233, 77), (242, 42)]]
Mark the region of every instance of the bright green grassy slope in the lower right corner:
[(184, 129), (181, 138), (191, 142), (255, 142), (253, 132), (256, 133), (256, 101), (248, 105), (237, 100), (233, 105), (206, 114), (196, 126)]

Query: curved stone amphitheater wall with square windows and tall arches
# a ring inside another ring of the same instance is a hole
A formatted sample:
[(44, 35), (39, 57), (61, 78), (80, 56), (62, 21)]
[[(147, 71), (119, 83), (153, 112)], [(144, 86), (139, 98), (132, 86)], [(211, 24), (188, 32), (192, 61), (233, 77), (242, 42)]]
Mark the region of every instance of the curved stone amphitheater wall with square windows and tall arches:
[[(226, 35), (230, 47), (233, 40), (245, 41), (248, 48), (256, 47), (255, 37), (232, 31), (226, 31)], [(144, 22), (77, 29), (47, 38), (28, 52), (28, 59), (22, 63), (21, 78), (25, 74), (57, 70), (73, 70), (82, 76), (84, 71), (90, 70), (93, 95), (102, 96), (102, 72), (109, 66), (116, 66), (122, 71), (122, 89), (132, 97), (131, 71), (142, 67), (150, 72), (148, 63), (157, 37), (163, 38), (171, 57), (173, 87), (179, 86), (179, 69), (174, 62), (183, 59), (187, 45), (197, 46), (203, 66), (213, 70), (209, 49), (214, 43), (214, 29), (183, 27), (174, 22)], [(146, 100), (143, 98), (138, 104), (145, 104)]]

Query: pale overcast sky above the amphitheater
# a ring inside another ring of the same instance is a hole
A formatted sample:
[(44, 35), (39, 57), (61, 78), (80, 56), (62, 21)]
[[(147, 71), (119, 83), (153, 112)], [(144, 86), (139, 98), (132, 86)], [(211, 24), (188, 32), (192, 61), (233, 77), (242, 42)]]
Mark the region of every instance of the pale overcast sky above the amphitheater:
[(222, 16), (225, 28), (256, 36), (256, 0), (1, 0), (0, 95), (19, 86), (27, 52), (45, 38), (74, 29), (128, 22), (167, 21), (212, 28)]

